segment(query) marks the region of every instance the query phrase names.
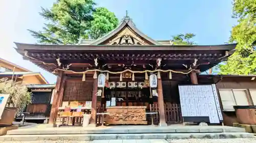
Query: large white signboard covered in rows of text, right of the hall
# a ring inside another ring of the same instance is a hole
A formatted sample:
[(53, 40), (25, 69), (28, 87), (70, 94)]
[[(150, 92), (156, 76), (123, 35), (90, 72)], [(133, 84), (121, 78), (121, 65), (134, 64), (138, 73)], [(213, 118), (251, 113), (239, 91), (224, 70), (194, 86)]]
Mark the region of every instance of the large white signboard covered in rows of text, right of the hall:
[(215, 84), (179, 85), (183, 118), (209, 117), (210, 123), (223, 120)]

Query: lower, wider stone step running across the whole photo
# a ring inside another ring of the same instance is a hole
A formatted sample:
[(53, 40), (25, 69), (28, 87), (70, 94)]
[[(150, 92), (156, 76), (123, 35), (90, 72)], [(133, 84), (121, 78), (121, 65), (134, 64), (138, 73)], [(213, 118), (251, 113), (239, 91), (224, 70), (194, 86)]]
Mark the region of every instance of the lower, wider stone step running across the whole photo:
[(251, 138), (254, 135), (246, 132), (222, 133), (137, 133), (137, 134), (27, 134), (4, 135), (0, 141), (33, 141), (33, 140), (102, 140), (102, 139), (186, 139), (186, 138)]

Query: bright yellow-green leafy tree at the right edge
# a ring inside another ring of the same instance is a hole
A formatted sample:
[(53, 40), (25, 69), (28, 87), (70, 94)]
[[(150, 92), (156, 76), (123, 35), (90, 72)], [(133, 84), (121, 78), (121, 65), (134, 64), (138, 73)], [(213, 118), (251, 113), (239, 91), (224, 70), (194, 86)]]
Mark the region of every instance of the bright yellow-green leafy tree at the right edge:
[(256, 74), (256, 0), (233, 0), (233, 17), (238, 24), (232, 27), (229, 42), (238, 45), (219, 66), (220, 74)]

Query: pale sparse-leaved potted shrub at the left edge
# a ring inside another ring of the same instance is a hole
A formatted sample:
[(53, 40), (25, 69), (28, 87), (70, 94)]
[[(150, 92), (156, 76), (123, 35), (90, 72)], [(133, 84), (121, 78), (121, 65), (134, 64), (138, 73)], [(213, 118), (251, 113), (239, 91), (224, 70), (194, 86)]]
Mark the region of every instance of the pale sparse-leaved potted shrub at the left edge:
[(0, 79), (0, 94), (10, 95), (7, 107), (16, 107), (17, 112), (31, 103), (31, 93), (28, 92), (27, 86), (20, 82), (8, 80), (8, 78)]

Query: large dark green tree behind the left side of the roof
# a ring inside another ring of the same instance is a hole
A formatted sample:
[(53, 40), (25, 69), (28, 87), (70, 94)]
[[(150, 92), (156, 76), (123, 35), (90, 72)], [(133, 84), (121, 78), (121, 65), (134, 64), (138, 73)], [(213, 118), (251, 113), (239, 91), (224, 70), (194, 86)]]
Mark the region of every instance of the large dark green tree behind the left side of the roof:
[(42, 31), (31, 35), (42, 44), (76, 44), (79, 39), (98, 39), (118, 24), (115, 14), (96, 8), (93, 0), (57, 0), (51, 9), (39, 13), (45, 23)]

